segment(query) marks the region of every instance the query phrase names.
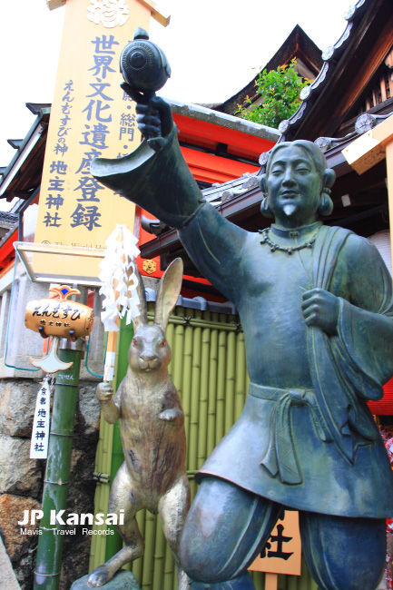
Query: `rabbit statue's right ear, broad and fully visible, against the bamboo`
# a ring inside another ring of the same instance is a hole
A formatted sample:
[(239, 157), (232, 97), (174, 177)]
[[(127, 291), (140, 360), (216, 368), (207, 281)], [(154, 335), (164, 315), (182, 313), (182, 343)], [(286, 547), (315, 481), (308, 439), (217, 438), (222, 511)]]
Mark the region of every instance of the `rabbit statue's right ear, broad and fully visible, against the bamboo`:
[(176, 258), (163, 273), (157, 292), (154, 323), (165, 331), (182, 289), (182, 259)]

